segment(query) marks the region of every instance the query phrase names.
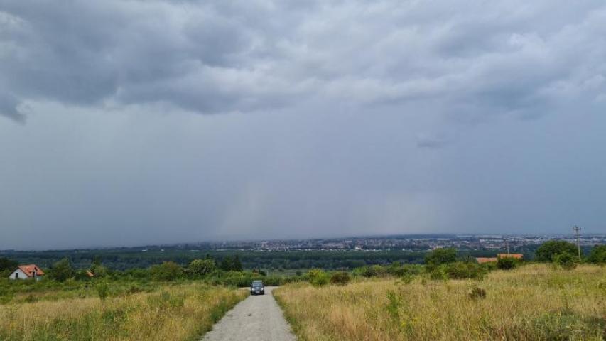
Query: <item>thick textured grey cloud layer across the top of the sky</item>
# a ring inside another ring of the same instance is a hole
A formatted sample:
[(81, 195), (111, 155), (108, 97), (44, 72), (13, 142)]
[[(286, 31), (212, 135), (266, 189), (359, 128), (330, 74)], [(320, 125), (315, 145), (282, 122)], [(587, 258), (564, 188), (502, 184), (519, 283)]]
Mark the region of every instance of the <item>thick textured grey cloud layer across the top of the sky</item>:
[[(536, 116), (563, 96), (603, 96), (602, 1), (474, 5), (1, 1), (1, 85), (13, 102), (166, 102), (201, 113), (320, 97)], [(17, 117), (13, 102), (3, 112)]]

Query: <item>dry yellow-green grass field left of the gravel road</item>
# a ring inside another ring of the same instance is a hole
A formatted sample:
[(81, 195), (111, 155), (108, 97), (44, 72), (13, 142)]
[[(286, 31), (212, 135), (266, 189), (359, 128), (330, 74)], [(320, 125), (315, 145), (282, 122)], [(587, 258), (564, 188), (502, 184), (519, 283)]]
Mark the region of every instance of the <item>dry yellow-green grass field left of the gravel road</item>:
[(198, 340), (247, 291), (183, 284), (151, 293), (0, 305), (0, 340)]

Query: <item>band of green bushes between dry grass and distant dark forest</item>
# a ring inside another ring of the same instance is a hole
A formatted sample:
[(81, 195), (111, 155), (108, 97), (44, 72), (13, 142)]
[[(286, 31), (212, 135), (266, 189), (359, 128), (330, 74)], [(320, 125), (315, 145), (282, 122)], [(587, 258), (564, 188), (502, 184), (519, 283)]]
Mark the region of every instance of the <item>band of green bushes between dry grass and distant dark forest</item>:
[[(549, 262), (561, 269), (574, 269), (579, 263), (574, 244), (562, 241), (550, 241), (541, 245), (536, 251), (536, 261)], [(606, 264), (606, 245), (594, 247), (585, 261), (594, 264)], [(360, 266), (351, 272), (326, 272), (311, 269), (306, 274), (297, 271), (292, 276), (267, 276), (264, 271), (243, 271), (238, 256), (226, 256), (216, 261), (210, 256), (195, 259), (188, 266), (180, 266), (172, 261), (153, 265), (148, 269), (129, 269), (114, 271), (102, 265), (98, 257), (93, 260), (89, 269), (74, 269), (70, 259), (55, 262), (46, 269), (43, 281), (9, 281), (6, 276), (16, 267), (11, 259), (0, 258), (0, 303), (10, 301), (15, 293), (33, 293), (52, 288), (63, 288), (67, 291), (78, 291), (82, 288), (100, 288), (99, 296), (116, 295), (131, 291), (146, 291), (155, 287), (156, 282), (201, 280), (210, 284), (223, 286), (249, 286), (251, 281), (262, 280), (267, 286), (280, 286), (292, 281), (308, 281), (314, 286), (328, 283), (345, 285), (352, 277), (395, 276), (410, 282), (416, 276), (425, 276), (434, 280), (472, 278), (481, 280), (485, 274), (494, 269), (514, 269), (519, 260), (501, 258), (497, 263), (477, 264), (474, 259), (461, 257), (456, 249), (436, 249), (425, 257), (425, 265), (401, 264), (396, 261), (389, 265)], [(94, 278), (87, 274), (90, 271)], [(97, 282), (104, 283), (99, 285)], [(12, 282), (12, 283), (11, 283)], [(91, 283), (94, 282), (94, 283)], [(108, 288), (104, 288), (108, 286)]]

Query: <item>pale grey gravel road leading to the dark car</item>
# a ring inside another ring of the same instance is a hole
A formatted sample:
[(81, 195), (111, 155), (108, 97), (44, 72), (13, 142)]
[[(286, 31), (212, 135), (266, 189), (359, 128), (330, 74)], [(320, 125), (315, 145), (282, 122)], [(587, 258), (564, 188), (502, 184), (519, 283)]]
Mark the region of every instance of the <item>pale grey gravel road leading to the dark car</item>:
[(282, 310), (266, 286), (265, 295), (249, 296), (212, 328), (203, 341), (295, 341)]

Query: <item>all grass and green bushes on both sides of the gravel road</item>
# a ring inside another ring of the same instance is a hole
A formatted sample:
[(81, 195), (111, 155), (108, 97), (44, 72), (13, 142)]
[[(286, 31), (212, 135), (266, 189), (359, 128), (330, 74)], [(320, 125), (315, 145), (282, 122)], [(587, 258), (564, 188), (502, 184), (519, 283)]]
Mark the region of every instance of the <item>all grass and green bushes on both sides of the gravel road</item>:
[(352, 271), (245, 270), (237, 254), (210, 254), (119, 271), (94, 256), (63, 258), (41, 281), (11, 281), (0, 257), (0, 340), (193, 340), (249, 286), (276, 297), (302, 340), (602, 340), (606, 247), (579, 261), (575, 246), (546, 242), (536, 260), (478, 264), (455, 249)]

